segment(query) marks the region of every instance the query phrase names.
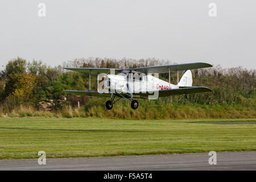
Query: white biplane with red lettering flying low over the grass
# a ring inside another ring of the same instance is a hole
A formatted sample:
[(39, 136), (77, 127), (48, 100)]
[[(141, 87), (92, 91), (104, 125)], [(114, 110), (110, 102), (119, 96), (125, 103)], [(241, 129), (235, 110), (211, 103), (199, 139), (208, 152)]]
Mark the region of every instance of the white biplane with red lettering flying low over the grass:
[[(131, 69), (112, 68), (64, 68), (76, 72), (89, 73), (89, 91), (64, 90), (65, 92), (96, 97), (109, 97), (106, 101), (106, 108), (111, 110), (113, 104), (124, 98), (131, 103), (131, 108), (137, 109), (139, 102), (135, 98), (156, 99), (158, 97), (168, 97), (184, 94), (212, 92), (211, 89), (203, 86), (192, 86), (192, 73), (190, 69), (208, 68), (212, 65), (208, 63), (188, 63), (176, 65), (161, 65), (154, 67), (141, 67)], [(179, 71), (184, 71), (184, 75), (179, 81)], [(177, 71), (177, 85), (171, 84), (171, 71)], [(90, 74), (97, 72), (98, 88), (96, 91), (90, 90)], [(111, 72), (109, 74), (109, 72)], [(115, 73), (118, 73), (115, 75)], [(160, 80), (159, 73), (169, 73), (169, 82)], [(154, 76), (152, 76), (154, 74)], [(100, 81), (100, 83), (99, 83)], [(117, 99), (115, 100), (115, 97)]]

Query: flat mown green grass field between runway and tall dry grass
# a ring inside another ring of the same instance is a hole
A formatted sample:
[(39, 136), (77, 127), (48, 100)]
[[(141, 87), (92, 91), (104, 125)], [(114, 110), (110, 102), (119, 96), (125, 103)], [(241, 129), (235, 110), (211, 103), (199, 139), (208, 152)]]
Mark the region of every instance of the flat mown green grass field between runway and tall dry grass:
[(0, 159), (256, 150), (256, 119), (0, 118)]

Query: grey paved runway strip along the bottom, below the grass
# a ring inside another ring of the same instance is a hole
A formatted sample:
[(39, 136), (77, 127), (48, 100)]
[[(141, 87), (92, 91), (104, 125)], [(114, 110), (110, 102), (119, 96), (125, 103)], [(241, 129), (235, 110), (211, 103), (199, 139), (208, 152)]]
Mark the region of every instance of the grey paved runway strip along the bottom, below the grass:
[(254, 170), (256, 151), (217, 152), (210, 165), (208, 153), (116, 156), (102, 158), (0, 160), (0, 170)]

